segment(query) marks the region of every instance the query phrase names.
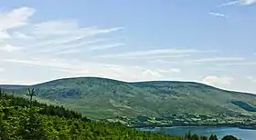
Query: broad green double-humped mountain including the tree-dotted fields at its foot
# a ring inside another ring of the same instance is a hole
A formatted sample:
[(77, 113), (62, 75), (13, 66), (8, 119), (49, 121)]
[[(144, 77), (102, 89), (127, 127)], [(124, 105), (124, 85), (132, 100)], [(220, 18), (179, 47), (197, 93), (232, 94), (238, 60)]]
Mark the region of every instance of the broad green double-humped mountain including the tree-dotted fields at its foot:
[(78, 77), (38, 85), (0, 85), (25, 96), (35, 88), (37, 101), (63, 105), (91, 119), (126, 125), (250, 125), (256, 122), (256, 95), (192, 82), (126, 83)]

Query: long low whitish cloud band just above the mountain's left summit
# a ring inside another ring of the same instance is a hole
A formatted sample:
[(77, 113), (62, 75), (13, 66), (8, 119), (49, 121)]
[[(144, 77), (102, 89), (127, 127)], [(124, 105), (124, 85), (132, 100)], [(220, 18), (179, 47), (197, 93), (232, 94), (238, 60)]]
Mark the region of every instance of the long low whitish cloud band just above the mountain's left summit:
[[(8, 63), (15, 63), (20, 65), (41, 66), (48, 67), (53, 70), (67, 72), (75, 75), (82, 76), (101, 76), (107, 78), (115, 78), (125, 81), (140, 81), (155, 80), (155, 78), (163, 78), (165, 75), (179, 73), (180, 69), (159, 69), (159, 68), (145, 68), (141, 66), (131, 65), (107, 65), (100, 63), (81, 62), (79, 60), (66, 60), (66, 59), (33, 59), (33, 60), (18, 60), (18, 59), (5, 59)], [(140, 74), (140, 76), (137, 76)]]

